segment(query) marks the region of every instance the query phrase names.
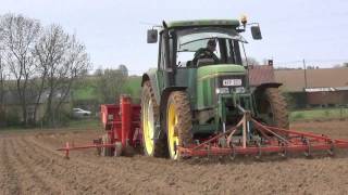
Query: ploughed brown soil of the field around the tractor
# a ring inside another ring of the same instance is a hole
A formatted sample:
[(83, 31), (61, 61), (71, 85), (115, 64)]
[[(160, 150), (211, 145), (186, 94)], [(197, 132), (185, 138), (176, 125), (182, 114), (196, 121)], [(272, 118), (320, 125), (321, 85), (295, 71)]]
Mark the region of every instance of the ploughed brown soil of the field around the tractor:
[[(291, 128), (348, 139), (348, 121), (298, 122)], [(238, 157), (172, 161), (145, 156), (98, 157), (99, 131), (0, 133), (0, 194), (347, 194), (348, 152), (282, 159)], [(90, 141), (90, 142), (89, 142)]]

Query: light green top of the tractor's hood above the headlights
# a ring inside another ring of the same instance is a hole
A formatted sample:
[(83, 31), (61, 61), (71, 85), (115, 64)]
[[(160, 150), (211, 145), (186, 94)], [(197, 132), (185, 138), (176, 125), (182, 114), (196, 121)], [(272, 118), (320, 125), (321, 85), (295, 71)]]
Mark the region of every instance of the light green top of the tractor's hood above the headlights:
[(203, 80), (212, 77), (224, 75), (245, 75), (246, 69), (241, 65), (234, 64), (214, 64), (199, 67), (197, 70), (197, 79)]

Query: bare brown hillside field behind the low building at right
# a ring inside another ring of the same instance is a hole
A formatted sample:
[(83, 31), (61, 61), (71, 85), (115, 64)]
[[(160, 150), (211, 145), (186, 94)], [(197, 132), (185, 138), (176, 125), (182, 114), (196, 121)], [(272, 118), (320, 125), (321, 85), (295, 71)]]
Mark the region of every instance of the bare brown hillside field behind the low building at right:
[(277, 82), (282, 82), (284, 91), (303, 91), (307, 89), (348, 87), (348, 68), (321, 68), (307, 69), (307, 87), (303, 69), (275, 69), (274, 76)]

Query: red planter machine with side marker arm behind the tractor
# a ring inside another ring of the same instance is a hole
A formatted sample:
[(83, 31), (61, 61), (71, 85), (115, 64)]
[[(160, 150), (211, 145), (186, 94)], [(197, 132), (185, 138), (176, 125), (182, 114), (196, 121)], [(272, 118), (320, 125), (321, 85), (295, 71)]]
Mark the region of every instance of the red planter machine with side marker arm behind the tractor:
[(75, 146), (66, 142), (64, 151), (69, 158), (70, 151), (97, 148), (101, 156), (120, 156), (126, 148), (136, 148), (141, 145), (140, 105), (132, 104), (127, 95), (121, 95), (120, 104), (102, 104), (100, 119), (105, 134), (94, 140), (92, 144)]

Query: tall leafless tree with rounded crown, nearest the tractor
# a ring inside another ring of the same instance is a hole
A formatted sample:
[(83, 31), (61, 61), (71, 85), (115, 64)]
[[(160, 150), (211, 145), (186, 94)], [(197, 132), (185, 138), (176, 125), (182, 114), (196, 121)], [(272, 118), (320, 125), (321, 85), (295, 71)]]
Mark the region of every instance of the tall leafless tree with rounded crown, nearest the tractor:
[[(73, 81), (89, 68), (85, 46), (61, 26), (51, 25), (35, 48), (40, 75), (40, 94), (47, 91), (45, 119), (55, 126), (55, 116), (69, 98)], [(37, 98), (37, 104), (40, 95)]]

